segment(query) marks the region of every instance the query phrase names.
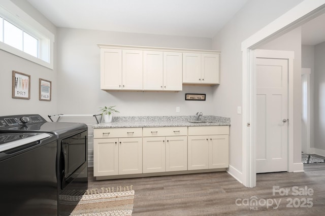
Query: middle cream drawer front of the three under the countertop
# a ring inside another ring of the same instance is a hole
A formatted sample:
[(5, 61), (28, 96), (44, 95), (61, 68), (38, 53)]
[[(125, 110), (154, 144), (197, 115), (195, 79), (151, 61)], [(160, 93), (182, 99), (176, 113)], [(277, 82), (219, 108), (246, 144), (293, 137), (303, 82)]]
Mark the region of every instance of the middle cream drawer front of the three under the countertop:
[(186, 136), (187, 127), (145, 127), (143, 136)]

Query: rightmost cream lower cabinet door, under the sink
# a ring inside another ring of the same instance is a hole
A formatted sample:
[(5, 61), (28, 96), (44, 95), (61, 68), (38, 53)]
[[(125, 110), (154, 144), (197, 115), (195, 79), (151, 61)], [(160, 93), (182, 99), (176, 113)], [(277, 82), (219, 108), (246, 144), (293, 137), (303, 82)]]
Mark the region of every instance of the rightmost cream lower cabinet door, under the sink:
[(229, 135), (209, 136), (209, 168), (229, 167)]

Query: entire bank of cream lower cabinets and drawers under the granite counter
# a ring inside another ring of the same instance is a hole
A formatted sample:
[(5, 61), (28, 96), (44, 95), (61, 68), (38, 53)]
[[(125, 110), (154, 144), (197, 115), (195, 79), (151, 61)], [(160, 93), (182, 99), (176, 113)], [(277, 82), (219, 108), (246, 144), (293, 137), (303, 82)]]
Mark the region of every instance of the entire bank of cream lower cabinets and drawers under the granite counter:
[(229, 167), (229, 126), (96, 128), (93, 140), (94, 176)]

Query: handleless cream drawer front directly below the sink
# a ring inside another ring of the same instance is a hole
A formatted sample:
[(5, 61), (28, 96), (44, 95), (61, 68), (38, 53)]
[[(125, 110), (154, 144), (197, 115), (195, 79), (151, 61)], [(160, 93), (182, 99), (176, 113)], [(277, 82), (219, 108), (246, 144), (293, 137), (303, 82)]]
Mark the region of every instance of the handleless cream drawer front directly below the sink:
[(188, 135), (222, 135), (229, 134), (229, 126), (193, 126), (188, 127)]

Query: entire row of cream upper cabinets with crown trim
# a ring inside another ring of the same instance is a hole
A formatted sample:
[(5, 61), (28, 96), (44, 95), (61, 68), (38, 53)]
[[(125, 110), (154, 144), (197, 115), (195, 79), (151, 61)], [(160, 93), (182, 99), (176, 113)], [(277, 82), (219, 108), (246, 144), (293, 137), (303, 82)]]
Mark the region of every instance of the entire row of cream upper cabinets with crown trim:
[(182, 91), (182, 84), (219, 84), (218, 51), (99, 47), (103, 90)]

